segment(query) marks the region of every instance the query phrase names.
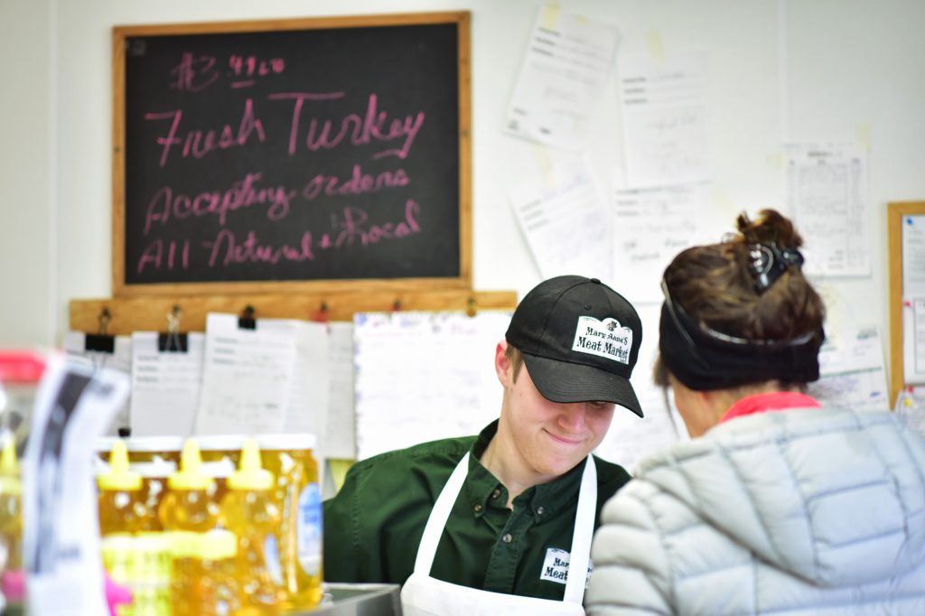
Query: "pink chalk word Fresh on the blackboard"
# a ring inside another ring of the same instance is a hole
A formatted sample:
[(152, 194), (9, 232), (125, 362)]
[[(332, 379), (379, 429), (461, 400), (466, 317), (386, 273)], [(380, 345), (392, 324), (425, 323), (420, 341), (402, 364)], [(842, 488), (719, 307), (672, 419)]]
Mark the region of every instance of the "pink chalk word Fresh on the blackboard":
[(216, 150), (227, 150), (228, 148), (240, 147), (245, 145), (252, 135), (255, 135), (260, 142), (266, 141), (264, 124), (260, 118), (256, 117), (253, 112), (253, 101), (247, 99), (244, 102), (244, 112), (241, 114), (238, 129), (232, 129), (226, 124), (220, 130), (190, 130), (184, 138), (180, 138), (179, 128), (180, 121), (183, 117), (182, 109), (174, 109), (163, 113), (144, 114), (144, 119), (149, 121), (170, 120), (170, 128), (167, 129), (166, 136), (158, 137), (154, 140), (161, 146), (160, 166), (166, 166), (167, 157), (175, 145), (183, 144), (180, 150), (181, 156), (186, 158), (202, 158), (204, 155)]

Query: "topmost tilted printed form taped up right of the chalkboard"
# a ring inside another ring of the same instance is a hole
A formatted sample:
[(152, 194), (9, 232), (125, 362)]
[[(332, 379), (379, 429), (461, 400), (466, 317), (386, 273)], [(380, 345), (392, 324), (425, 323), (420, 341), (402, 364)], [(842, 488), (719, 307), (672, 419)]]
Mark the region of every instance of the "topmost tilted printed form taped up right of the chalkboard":
[(593, 134), (620, 33), (609, 24), (540, 7), (514, 84), (505, 129), (569, 150)]

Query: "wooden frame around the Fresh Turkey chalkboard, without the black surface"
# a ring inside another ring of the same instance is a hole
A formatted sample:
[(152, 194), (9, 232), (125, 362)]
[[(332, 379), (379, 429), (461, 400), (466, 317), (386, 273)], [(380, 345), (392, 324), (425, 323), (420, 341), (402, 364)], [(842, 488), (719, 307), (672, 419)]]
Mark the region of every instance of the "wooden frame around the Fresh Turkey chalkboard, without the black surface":
[[(126, 41), (131, 37), (246, 33), (383, 26), (455, 24), (459, 92), (459, 276), (233, 282), (129, 284), (125, 272), (126, 220)], [(472, 288), (472, 145), (470, 99), (470, 14), (468, 11), (357, 17), (201, 22), (113, 28), (113, 294), (116, 297), (468, 290)]]

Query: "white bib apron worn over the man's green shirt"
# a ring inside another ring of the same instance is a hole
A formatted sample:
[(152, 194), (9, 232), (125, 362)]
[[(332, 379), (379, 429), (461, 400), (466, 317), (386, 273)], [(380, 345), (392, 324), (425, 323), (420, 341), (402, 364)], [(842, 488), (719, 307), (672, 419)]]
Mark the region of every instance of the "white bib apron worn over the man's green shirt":
[[(588, 456), (586, 461), (578, 491), (569, 576), (565, 584), (565, 597), (561, 601), (494, 593), (430, 577), (437, 544), (469, 472), (469, 454), (466, 453), (450, 474), (447, 485), (440, 491), (434, 509), (427, 518), (424, 536), (417, 548), (414, 573), (401, 588), (401, 609), (405, 616), (584, 616), (582, 599), (585, 597), (587, 563), (591, 556), (591, 536), (594, 533), (594, 515), (598, 503), (598, 471), (592, 456)], [(539, 575), (538, 571), (536, 575)]]

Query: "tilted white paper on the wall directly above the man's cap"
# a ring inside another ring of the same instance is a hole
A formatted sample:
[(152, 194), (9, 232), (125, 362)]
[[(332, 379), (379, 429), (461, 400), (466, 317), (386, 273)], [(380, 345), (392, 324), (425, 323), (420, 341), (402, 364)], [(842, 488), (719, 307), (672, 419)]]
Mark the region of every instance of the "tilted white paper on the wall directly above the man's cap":
[(542, 179), (524, 182), (509, 195), (540, 274), (587, 272), (610, 280), (607, 208), (591, 167), (579, 155), (544, 155)]

